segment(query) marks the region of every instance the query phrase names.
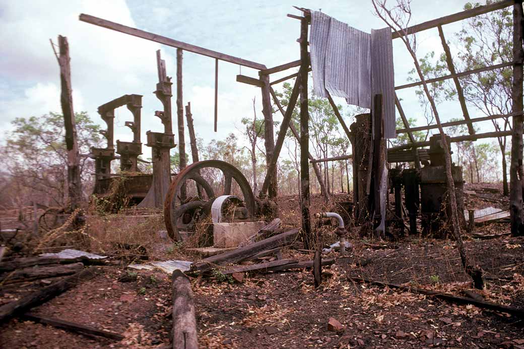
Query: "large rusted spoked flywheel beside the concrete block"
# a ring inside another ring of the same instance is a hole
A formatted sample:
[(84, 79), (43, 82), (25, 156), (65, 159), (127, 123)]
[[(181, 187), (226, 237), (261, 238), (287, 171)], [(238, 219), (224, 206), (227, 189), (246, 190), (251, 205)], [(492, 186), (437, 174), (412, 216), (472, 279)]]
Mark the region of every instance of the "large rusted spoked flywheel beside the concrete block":
[[(244, 204), (248, 215), (255, 215), (256, 204), (253, 190), (241, 171), (230, 163), (220, 160), (193, 162), (172, 179), (166, 200), (164, 201), (164, 221), (166, 222), (168, 235), (173, 241), (181, 241), (180, 228), (192, 229), (194, 221), (201, 220), (207, 216), (211, 211), (213, 200), (220, 196), (215, 194), (211, 184), (201, 176), (200, 173), (206, 168), (216, 168), (222, 171), (225, 183), (224, 192), (220, 195), (231, 194), (231, 186), (234, 179), (244, 196)], [(197, 197), (194, 200), (190, 199), (180, 202), (180, 189), (188, 180), (193, 180), (203, 188), (207, 200)]]

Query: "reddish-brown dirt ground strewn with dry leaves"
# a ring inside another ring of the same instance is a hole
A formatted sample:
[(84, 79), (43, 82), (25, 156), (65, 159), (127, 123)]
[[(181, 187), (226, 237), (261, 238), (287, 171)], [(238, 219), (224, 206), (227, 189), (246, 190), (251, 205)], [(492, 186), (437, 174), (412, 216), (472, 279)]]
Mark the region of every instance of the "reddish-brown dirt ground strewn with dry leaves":
[[(487, 186), (468, 188), (477, 196), (468, 195), (466, 204), (504, 207), (504, 202), (497, 201), (504, 200), (500, 194), (479, 189)], [(299, 222), (297, 198), (281, 198), (279, 204), (284, 222)], [(321, 198), (313, 198), (312, 212), (320, 207)], [(508, 231), (508, 223), (476, 227), (477, 233)], [(331, 234), (325, 239), (334, 241)], [(335, 257), (336, 262), (323, 268), (323, 283), (317, 289), (309, 270), (251, 274), (242, 283), (220, 277), (192, 279), (200, 346), (524, 348), (522, 319), (347, 278), (358, 276), (463, 296), (471, 285), (454, 242), (422, 236), (397, 236), (395, 242), (387, 243), (362, 238), (350, 241), (353, 248), (346, 256), (331, 252), (323, 257)], [(152, 259), (195, 259), (183, 246), (160, 238), (157, 243), (160, 247)], [(487, 285), (479, 293), (486, 300), (524, 308), (524, 237), (466, 238), (465, 246), (485, 272)], [(312, 254), (286, 249), (283, 257), (310, 260)], [(123, 341), (14, 319), (0, 327), (0, 347), (170, 347), (170, 277), (162, 271), (133, 270), (135, 281), (120, 282), (118, 278), (128, 272), (125, 264), (101, 269), (99, 276), (32, 311), (121, 333)], [(0, 304), (40, 287), (39, 281), (4, 285)], [(328, 328), (330, 318), (341, 323), (338, 331)]]

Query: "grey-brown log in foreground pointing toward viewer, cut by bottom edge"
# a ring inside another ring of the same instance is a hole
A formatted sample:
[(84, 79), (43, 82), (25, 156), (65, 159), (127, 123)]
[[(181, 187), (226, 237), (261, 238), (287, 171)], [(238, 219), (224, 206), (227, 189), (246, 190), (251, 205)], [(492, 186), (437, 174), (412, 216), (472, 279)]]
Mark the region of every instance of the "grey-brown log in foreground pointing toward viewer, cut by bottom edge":
[(195, 306), (189, 278), (173, 271), (173, 349), (197, 349)]

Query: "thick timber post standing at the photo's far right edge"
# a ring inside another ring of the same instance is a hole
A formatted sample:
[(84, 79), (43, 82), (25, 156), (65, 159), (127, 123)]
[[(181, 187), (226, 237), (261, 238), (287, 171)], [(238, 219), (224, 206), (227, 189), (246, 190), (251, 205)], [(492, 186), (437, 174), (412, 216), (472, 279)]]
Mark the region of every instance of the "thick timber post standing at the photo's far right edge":
[[(513, 82), (511, 85), (511, 112), (522, 112), (522, 0), (513, 5)], [(522, 169), (522, 123), (524, 116), (514, 115), (511, 134), (510, 181), (510, 214), (511, 235), (524, 235), (522, 217), (522, 192), (524, 191), (524, 170)]]

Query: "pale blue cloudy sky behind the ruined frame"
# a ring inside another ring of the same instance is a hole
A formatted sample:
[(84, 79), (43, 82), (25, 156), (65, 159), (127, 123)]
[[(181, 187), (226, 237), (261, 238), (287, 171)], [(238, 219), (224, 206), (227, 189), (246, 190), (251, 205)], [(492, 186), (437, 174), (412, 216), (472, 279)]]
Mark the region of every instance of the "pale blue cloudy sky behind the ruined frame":
[[(412, 1), (410, 24), (460, 12), (466, 1), (442, 0), (428, 10), (425, 0)], [(156, 110), (162, 110), (152, 93), (158, 82), (156, 50), (166, 60), (167, 74), (173, 77), (176, 95), (176, 49), (120, 32), (97, 27), (78, 20), (81, 13), (111, 20), (170, 37), (192, 45), (220, 51), (231, 56), (265, 64), (268, 68), (300, 58), (300, 23), (287, 14), (300, 15), (292, 6), (321, 9), (322, 12), (369, 32), (385, 27), (373, 14), (370, 1), (336, 0), (323, 3), (311, 0), (286, 1), (167, 1), (167, 0), (0, 0), (0, 144), (6, 140), (10, 123), (15, 117), (40, 116), (48, 112), (61, 113), (59, 67), (49, 39), (68, 38), (71, 56), (73, 106), (86, 111), (104, 126), (96, 112), (97, 106), (124, 94), (143, 95), (141, 139), (146, 132), (162, 132)], [(460, 24), (444, 26), (446, 37), (453, 45), (453, 33)], [(400, 40), (394, 40), (395, 84), (406, 83), (413, 62)], [(418, 54), (442, 51), (438, 31), (427, 30), (417, 38)], [(257, 77), (257, 71), (236, 64), (219, 62), (218, 132), (213, 132), (214, 59), (184, 51), (183, 103), (191, 102), (194, 126), (204, 144), (211, 139), (224, 139), (229, 133), (241, 138), (241, 119), (253, 116), (253, 98), (261, 117), (260, 89), (236, 82), (236, 74)], [(272, 80), (290, 74), (274, 74)], [(274, 86), (278, 90), (281, 85)], [(425, 120), (415, 89), (398, 93), (408, 117)], [(344, 103), (337, 100), (337, 103)], [(173, 130), (176, 130), (176, 98), (172, 99)], [(346, 109), (346, 107), (344, 107)], [(349, 109), (348, 109), (349, 110)], [(461, 117), (460, 105), (439, 106), (443, 121)], [(472, 117), (481, 116), (470, 111)], [(115, 111), (115, 140), (132, 140), (124, 126), (132, 121), (125, 108)], [(279, 114), (275, 119), (280, 120)], [(347, 122), (350, 122), (348, 119)], [(189, 136), (186, 130), (187, 152)], [(176, 136), (175, 143), (177, 143)], [(144, 157), (150, 150), (143, 146)]]

